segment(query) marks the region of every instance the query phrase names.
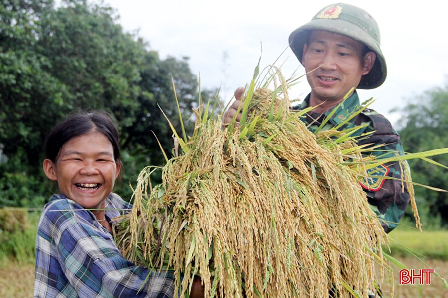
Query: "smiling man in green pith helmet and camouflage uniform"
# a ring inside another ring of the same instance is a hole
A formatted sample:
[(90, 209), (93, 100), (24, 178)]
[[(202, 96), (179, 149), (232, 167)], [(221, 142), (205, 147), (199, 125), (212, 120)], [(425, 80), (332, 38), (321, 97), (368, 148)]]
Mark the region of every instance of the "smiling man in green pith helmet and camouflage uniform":
[[(293, 109), (312, 106), (315, 109), (303, 121), (311, 131), (335, 109), (324, 129), (343, 122), (350, 112), (360, 106), (354, 88), (373, 89), (386, 79), (386, 62), (380, 49), (380, 33), (376, 21), (364, 10), (338, 3), (319, 11), (313, 19), (294, 30), (289, 36), (292, 51), (305, 67), (311, 93), (301, 105)], [(243, 88), (235, 91), (235, 102), (224, 115), (230, 122), (236, 115)], [(349, 95), (347, 99), (344, 97)], [(359, 144), (379, 146), (372, 155), (389, 157), (403, 154), (400, 137), (390, 122), (371, 109), (365, 109), (343, 128), (366, 125), (355, 134), (373, 132)], [(371, 171), (376, 176), (403, 179), (404, 168), (398, 162), (383, 164)], [(366, 179), (361, 183), (371, 208), (375, 211), (386, 232), (397, 226), (409, 203), (409, 193), (399, 180)]]

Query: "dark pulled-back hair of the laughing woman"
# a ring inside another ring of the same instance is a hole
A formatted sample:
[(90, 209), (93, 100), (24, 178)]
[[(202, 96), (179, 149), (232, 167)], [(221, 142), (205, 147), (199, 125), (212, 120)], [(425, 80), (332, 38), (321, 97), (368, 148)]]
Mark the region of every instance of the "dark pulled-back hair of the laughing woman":
[(65, 143), (92, 130), (102, 133), (109, 139), (115, 162), (122, 165), (118, 130), (112, 121), (112, 116), (104, 111), (70, 114), (59, 122), (45, 140), (45, 158), (56, 163), (59, 151)]

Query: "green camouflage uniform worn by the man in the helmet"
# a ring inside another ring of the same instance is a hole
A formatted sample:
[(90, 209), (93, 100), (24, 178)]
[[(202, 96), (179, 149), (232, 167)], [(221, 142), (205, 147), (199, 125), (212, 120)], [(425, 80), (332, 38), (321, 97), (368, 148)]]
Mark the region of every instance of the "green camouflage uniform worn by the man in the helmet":
[[(309, 105), (310, 95), (308, 95), (302, 104), (293, 107), (295, 110), (302, 110)], [(359, 108), (359, 97), (356, 91), (347, 98), (341, 106), (336, 106), (333, 109), (337, 111), (332, 118), (326, 123), (324, 129), (331, 129), (332, 127), (344, 121), (348, 114)], [(333, 109), (324, 114), (311, 113), (303, 119), (306, 124), (310, 124), (309, 130), (314, 132), (322, 120), (324, 120)], [(356, 115), (351, 122), (346, 124), (342, 129), (351, 128), (354, 126), (368, 124), (357, 130), (353, 136), (360, 136), (363, 133), (375, 131), (368, 138), (358, 141), (359, 145), (372, 144), (371, 146), (382, 145), (380, 148), (374, 149), (372, 155), (379, 157), (392, 157), (393, 154), (403, 155), (403, 147), (401, 145), (398, 133), (392, 128), (390, 122), (381, 114), (374, 110), (364, 109), (361, 113)], [(384, 145), (385, 144), (385, 145)], [(385, 155), (387, 153), (387, 155)], [(397, 179), (403, 179), (403, 168), (398, 162), (383, 164), (370, 171), (375, 171), (374, 175), (389, 176)], [(409, 203), (409, 193), (406, 184), (399, 180), (392, 179), (369, 179), (361, 183), (363, 190), (367, 195), (367, 200), (372, 210), (377, 214), (378, 218), (382, 220), (382, 226), (386, 233), (390, 232), (397, 226), (400, 218), (403, 216), (406, 207)]]

